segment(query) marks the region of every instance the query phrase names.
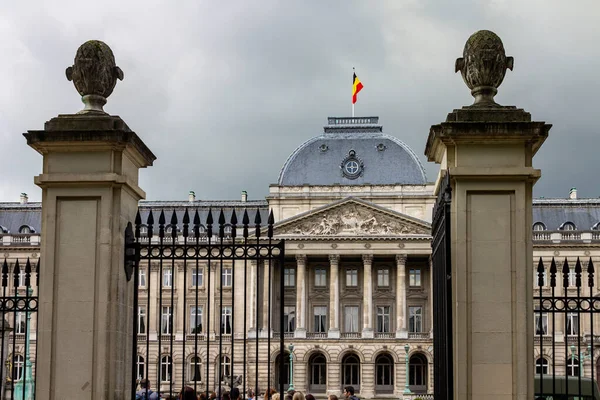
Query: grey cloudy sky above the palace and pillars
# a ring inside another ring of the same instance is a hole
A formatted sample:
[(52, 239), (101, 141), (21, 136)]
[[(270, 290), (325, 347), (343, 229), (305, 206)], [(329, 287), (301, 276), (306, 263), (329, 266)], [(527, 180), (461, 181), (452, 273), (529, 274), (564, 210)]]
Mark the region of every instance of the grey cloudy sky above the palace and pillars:
[(0, 5), (0, 201), (27, 192), (41, 156), (21, 135), (79, 111), (65, 78), (77, 47), (109, 44), (125, 72), (105, 107), (157, 155), (148, 199), (263, 198), (289, 154), (328, 116), (357, 116), (423, 151), (429, 127), (472, 102), (454, 61), (495, 31), (515, 58), (496, 100), (552, 123), (536, 196), (599, 197), (597, 0), (25, 1)]

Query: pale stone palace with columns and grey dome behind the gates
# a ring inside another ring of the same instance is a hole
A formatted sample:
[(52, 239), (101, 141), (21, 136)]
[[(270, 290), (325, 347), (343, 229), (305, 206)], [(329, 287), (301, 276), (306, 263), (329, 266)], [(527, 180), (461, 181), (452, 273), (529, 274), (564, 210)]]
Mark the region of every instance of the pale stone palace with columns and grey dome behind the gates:
[[(292, 152), (265, 200), (248, 200), (242, 192), (240, 200), (203, 201), (190, 192), (187, 201), (140, 202), (143, 221), (150, 211), (158, 215), (164, 210), (170, 215), (198, 210), (204, 217), (209, 209), (223, 209), (226, 214), (235, 210), (238, 216), (244, 210), (258, 209), (266, 220), (272, 210), (274, 235), (286, 240), (286, 257), (283, 268), (273, 269), (256, 262), (203, 263), (193, 268), (180, 263), (143, 263), (136, 373), (139, 377), (148, 373), (153, 386), (162, 382), (163, 390), (172, 380), (178, 387), (185, 380), (200, 388), (209, 381), (213, 389), (223, 375), (241, 373), (241, 349), (248, 339), (248, 381), (253, 382), (258, 374), (262, 390), (275, 386), (281, 359), (275, 339), (279, 326), (274, 321), (279, 321), (277, 304), (283, 297), (284, 336), (286, 345), (294, 345), (296, 390), (320, 397), (340, 394), (346, 385), (354, 386), (365, 398), (398, 398), (407, 389), (431, 393), (435, 310), (430, 255), (435, 200), (434, 184), (427, 180), (414, 152), (385, 134), (378, 117), (367, 117), (329, 118), (323, 133)], [(572, 266), (578, 257), (600, 265), (600, 199), (578, 199), (572, 189), (566, 199), (534, 200), (533, 210), (534, 265), (540, 257), (547, 265), (553, 257), (561, 263), (566, 258)], [(0, 248), (9, 271), (16, 260), (23, 263), (29, 257), (37, 263), (43, 240), (40, 214), (41, 204), (29, 203), (24, 194), (20, 202), (0, 203)], [(181, 226), (166, 229), (179, 231)], [(156, 240), (148, 233), (142, 225), (142, 240)], [(181, 233), (176, 236), (175, 240), (182, 240)], [(43, 260), (41, 266), (43, 275)], [(283, 293), (274, 283), (281, 273)], [(8, 285), (7, 290), (14, 293), (11, 279)], [(545, 280), (544, 290), (549, 290), (548, 285)], [(557, 294), (561, 290), (557, 288)], [(568, 295), (571, 289), (566, 290)], [(24, 288), (18, 293), (24, 295)], [(273, 307), (265, 306), (269, 296)], [(17, 343), (13, 380), (22, 377), (24, 318), (17, 314), (14, 324), (7, 319)], [(574, 338), (589, 342), (591, 334), (582, 328), (589, 324), (567, 313), (557, 318), (554, 329), (549, 329), (547, 315), (536, 319), (541, 340), (560, 344), (554, 358), (549, 357), (549, 350), (534, 355), (538, 367), (550, 368), (551, 360), (567, 354), (573, 371), (581, 366), (589, 376), (592, 363), (597, 365), (595, 356), (575, 357), (564, 346)], [(35, 346), (35, 319), (31, 326)], [(600, 332), (600, 324), (597, 328)], [(269, 336), (273, 338), (270, 348)], [(254, 369), (256, 338), (258, 371)], [(206, 351), (207, 341), (225, 343), (220, 358)], [(165, 348), (171, 345), (172, 349)], [(289, 353), (284, 362), (287, 357)], [(594, 374), (600, 370), (594, 368)], [(289, 376), (282, 378), (289, 383)]]

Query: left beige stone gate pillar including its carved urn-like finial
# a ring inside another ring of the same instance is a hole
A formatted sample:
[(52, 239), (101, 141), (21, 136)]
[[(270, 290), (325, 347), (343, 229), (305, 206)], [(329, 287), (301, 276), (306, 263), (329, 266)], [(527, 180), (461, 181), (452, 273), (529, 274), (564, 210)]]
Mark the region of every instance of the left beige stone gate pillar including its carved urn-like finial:
[(102, 106), (123, 72), (111, 49), (84, 43), (67, 69), (85, 104), (24, 134), (43, 155), (36, 398), (129, 399), (133, 282), (124, 230), (138, 201), (138, 170), (156, 157)]

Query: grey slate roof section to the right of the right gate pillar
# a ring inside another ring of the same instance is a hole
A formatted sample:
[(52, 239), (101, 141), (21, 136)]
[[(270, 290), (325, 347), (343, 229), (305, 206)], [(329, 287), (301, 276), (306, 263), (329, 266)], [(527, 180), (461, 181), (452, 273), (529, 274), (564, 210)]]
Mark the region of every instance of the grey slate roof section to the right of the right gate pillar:
[(541, 222), (547, 230), (557, 230), (572, 222), (585, 231), (600, 222), (600, 199), (534, 199), (533, 223)]

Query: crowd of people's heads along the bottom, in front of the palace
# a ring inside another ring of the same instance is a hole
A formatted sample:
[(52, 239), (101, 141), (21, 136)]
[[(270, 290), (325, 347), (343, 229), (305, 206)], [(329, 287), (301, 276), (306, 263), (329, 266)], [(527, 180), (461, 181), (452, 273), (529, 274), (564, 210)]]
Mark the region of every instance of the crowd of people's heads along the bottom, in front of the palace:
[[(234, 387), (231, 391), (223, 392), (220, 398), (215, 392), (210, 392), (209, 397), (206, 397), (206, 392), (196, 393), (194, 388), (185, 386), (181, 389), (177, 397), (167, 395), (163, 397), (160, 393), (155, 392), (150, 387), (150, 382), (147, 379), (140, 381), (140, 390), (136, 392), (136, 400), (158, 400), (158, 399), (173, 399), (173, 400), (316, 400), (312, 394), (304, 394), (299, 391), (290, 390), (285, 393), (285, 397), (281, 399), (281, 394), (275, 389), (269, 389), (262, 396), (255, 396), (252, 390), (248, 391), (248, 396), (244, 399), (240, 389)], [(335, 394), (330, 394), (327, 400), (340, 400)], [(343, 400), (358, 400), (354, 395), (354, 388), (346, 386), (344, 388)]]

